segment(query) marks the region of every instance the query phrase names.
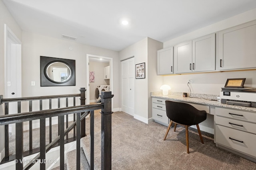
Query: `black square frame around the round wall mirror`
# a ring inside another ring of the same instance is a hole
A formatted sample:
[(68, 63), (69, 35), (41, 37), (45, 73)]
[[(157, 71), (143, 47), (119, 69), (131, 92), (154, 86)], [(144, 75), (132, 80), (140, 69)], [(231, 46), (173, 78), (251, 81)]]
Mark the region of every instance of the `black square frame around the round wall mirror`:
[[(56, 62), (63, 63), (70, 69), (70, 76), (67, 80), (57, 82), (48, 77), (46, 69)], [(40, 56), (40, 86), (76, 86), (76, 61)]]

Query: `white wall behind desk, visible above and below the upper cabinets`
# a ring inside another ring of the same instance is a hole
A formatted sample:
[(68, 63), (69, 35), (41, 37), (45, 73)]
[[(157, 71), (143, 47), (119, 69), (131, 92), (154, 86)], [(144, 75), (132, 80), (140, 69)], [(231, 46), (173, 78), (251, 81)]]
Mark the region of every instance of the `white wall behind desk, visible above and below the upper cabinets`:
[[(226, 20), (220, 21), (218, 23), (214, 23), (207, 27), (203, 27), (186, 35), (182, 35), (180, 37), (166, 41), (164, 42), (164, 48), (168, 48), (178, 43), (202, 37), (204, 35), (208, 35), (210, 33), (227, 29), (252, 20), (256, 20), (256, 8), (248, 12), (239, 14), (237, 16), (233, 16)], [(218, 39), (216, 39), (216, 41), (218, 41)], [(216, 45), (216, 48), (218, 48), (218, 45)], [(216, 53), (216, 59), (218, 59), (218, 53)], [(227, 78), (246, 78), (245, 86), (256, 87), (255, 74), (256, 70), (247, 70), (232, 72), (182, 74), (162, 77), (163, 84), (170, 85), (172, 88), (171, 91), (173, 92), (188, 92), (186, 81), (192, 80), (192, 93), (217, 95), (220, 93), (221, 87), (225, 85)]]

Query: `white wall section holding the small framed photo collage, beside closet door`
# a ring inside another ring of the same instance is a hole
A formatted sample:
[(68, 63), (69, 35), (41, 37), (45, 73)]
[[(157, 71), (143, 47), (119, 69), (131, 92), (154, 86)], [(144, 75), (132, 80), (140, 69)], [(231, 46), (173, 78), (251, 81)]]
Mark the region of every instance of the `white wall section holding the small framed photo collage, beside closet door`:
[[(144, 38), (119, 52), (120, 61), (134, 56), (134, 64), (145, 63), (146, 78), (134, 80), (134, 118), (148, 122), (148, 38)], [(121, 62), (119, 62), (120, 66)], [(135, 66), (134, 66), (135, 69)], [(121, 104), (120, 104), (121, 105)]]

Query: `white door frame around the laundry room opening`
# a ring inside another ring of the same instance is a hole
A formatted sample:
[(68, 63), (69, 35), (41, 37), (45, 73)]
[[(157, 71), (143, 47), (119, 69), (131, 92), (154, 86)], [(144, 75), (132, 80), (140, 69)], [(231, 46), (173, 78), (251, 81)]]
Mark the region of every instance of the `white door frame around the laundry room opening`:
[[(109, 60), (109, 65), (110, 65), (110, 89), (111, 92), (113, 94), (113, 58), (110, 57), (104, 57), (104, 56), (99, 56), (99, 55), (91, 55), (91, 54), (86, 54), (86, 104), (90, 104), (90, 81), (89, 81), (89, 77), (90, 77), (90, 72), (89, 72), (89, 59), (91, 58), (97, 58), (97, 59), (105, 59), (105, 60)], [(113, 108), (113, 98), (112, 98), (112, 102), (111, 102), (111, 107), (112, 110)]]

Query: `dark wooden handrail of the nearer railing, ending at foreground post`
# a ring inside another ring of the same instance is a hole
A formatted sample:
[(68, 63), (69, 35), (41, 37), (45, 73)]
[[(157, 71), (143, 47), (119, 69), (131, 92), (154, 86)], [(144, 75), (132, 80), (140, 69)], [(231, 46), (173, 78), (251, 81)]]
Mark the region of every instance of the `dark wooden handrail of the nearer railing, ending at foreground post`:
[(104, 106), (103, 103), (99, 103), (99, 104), (71, 106), (71, 107), (41, 110), (41, 111), (30, 111), (30, 112), (16, 113), (11, 115), (1, 115), (0, 125), (8, 125), (11, 123), (18, 123), (22, 121), (30, 121), (30, 120), (36, 120), (41, 118), (48, 118), (48, 117), (102, 109), (103, 106)]

